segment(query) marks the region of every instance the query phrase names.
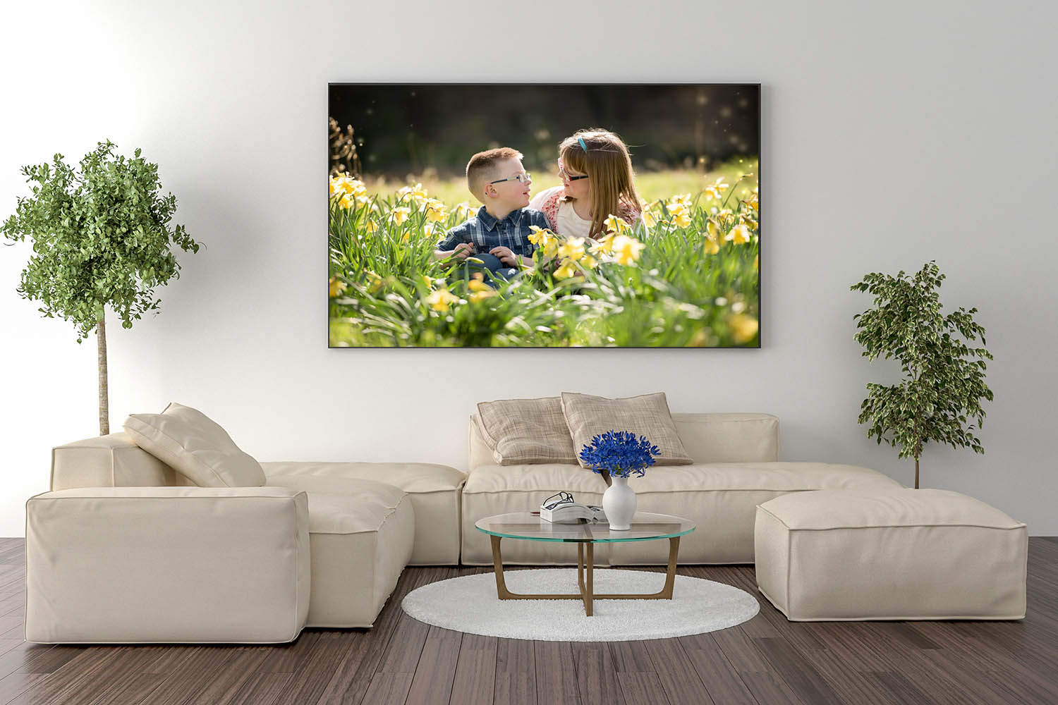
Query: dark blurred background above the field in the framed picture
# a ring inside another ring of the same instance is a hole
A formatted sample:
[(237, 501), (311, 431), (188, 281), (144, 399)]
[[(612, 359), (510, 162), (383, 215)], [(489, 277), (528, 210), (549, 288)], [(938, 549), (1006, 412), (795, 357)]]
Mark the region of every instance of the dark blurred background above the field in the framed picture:
[(513, 147), (554, 171), (581, 128), (619, 134), (637, 173), (706, 173), (760, 153), (756, 85), (350, 85), (329, 90), (331, 173), (398, 182), (461, 177), (475, 152)]

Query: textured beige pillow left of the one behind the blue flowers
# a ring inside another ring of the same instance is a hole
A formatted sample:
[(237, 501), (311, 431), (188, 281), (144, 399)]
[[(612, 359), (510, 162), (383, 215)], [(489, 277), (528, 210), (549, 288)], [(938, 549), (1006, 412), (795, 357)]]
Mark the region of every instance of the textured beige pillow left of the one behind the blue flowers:
[(558, 396), (481, 402), (477, 426), (499, 465), (577, 462)]

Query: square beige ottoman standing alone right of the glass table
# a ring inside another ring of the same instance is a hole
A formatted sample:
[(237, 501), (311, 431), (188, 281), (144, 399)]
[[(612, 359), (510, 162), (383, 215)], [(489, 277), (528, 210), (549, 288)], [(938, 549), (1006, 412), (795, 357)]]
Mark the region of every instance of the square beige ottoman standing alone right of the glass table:
[(756, 507), (756, 582), (786, 618), (1021, 619), (1028, 531), (959, 493), (820, 490)]

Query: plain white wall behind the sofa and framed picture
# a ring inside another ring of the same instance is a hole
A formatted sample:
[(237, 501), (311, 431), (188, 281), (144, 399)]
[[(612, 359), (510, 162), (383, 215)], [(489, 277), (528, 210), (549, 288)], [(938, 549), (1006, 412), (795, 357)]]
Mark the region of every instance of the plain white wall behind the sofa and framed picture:
[[(262, 460), (464, 467), (477, 401), (665, 390), (677, 411), (778, 414), (784, 459), (908, 483), (856, 423), (892, 368), (859, 357), (849, 285), (936, 258), (945, 302), (981, 310), (996, 401), (987, 454), (929, 448), (924, 484), (1058, 534), (1058, 6), (576, 4), (6, 3), (0, 216), (19, 166), (109, 137), (161, 165), (205, 244), (160, 316), (111, 326), (113, 426), (176, 400)], [(762, 82), (763, 349), (328, 350), (327, 82), (352, 80)], [(96, 432), (94, 339), (15, 294), (28, 256), (0, 249), (0, 536), (22, 535), (49, 448)]]

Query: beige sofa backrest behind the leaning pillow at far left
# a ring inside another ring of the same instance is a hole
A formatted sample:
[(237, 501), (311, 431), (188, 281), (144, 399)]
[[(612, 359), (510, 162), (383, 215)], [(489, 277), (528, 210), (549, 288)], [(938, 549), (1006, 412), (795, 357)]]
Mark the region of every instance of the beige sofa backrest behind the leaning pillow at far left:
[(51, 488), (159, 487), (191, 485), (171, 467), (132, 443), (110, 433), (52, 448)]

